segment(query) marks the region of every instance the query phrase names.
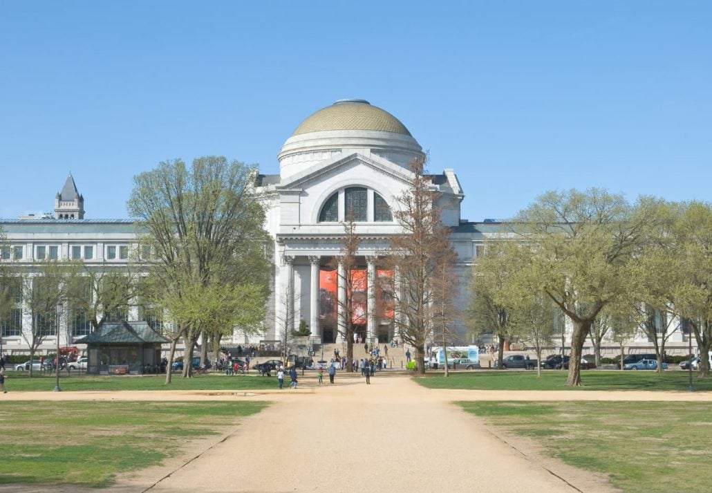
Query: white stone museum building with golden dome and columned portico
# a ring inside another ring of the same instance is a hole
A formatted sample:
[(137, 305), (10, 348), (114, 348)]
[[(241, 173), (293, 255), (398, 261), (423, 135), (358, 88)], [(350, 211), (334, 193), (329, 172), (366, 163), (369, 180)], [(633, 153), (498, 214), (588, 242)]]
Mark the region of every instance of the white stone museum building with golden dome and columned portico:
[[(337, 100), (303, 120), (278, 153), (279, 174), (256, 176), (256, 187), (266, 197), (266, 229), (273, 238), (273, 286), (263, 333), (236, 332), (231, 343), (280, 341), (286, 327), (302, 321), (311, 336), (325, 343), (339, 342), (337, 331), (346, 290), (337, 278), (337, 259), (345, 236), (343, 222), (351, 211), (361, 242), (360, 288), (352, 323), (370, 341), (390, 341), (394, 333), (392, 306), (379, 289), (377, 277), (393, 276), (379, 264), (379, 252), (400, 232), (394, 220), (398, 198), (412, 182), (411, 162), (424, 157), (422, 147), (397, 118), (365, 100)], [(497, 222), (461, 219), (464, 190), (452, 169), (428, 175), (431, 190), (439, 192), (441, 219), (451, 229), (450, 242), (458, 255), (456, 276), (460, 306), (466, 306), (468, 276), (487, 237), (498, 234)], [(68, 176), (55, 197), (52, 215), (0, 219), (6, 234), (1, 260), (31, 268), (38, 259), (80, 259), (89, 266), (125, 268), (138, 248), (137, 232), (129, 219), (85, 219), (84, 198)], [(29, 330), (23, 301), (2, 321), (2, 351), (23, 352)], [(132, 306), (128, 320), (145, 320), (147, 309)], [(90, 326), (67, 307), (61, 317), (62, 345), (88, 335)], [(466, 341), (464, 323), (459, 326)], [(48, 328), (51, 331), (51, 328)], [(55, 346), (48, 335), (41, 348)], [(672, 339), (671, 339), (672, 342)]]

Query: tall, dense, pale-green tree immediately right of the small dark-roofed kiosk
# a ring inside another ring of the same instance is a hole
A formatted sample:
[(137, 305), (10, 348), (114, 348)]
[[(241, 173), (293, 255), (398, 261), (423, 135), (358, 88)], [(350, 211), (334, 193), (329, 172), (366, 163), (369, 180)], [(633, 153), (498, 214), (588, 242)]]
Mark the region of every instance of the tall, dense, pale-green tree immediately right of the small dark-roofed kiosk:
[[(201, 332), (206, 341), (208, 327), (219, 331), (214, 338), (227, 330), (220, 321), (211, 323), (216, 313), (209, 301), (199, 303), (202, 315), (189, 310), (188, 301), (179, 301), (194, 300), (198, 286), (211, 290), (211, 284), (223, 284), (236, 290), (251, 284), (261, 293), (258, 304), (266, 303), (271, 242), (263, 229), (265, 210), (254, 177), (252, 168), (215, 156), (199, 157), (190, 168), (182, 160), (161, 162), (134, 177), (128, 209), (143, 233), (141, 244), (150, 251), (148, 293), (151, 301), (178, 317), (167, 331), (171, 362), (180, 338), (190, 360)], [(210, 292), (211, 301), (223, 299)], [(244, 328), (258, 331), (259, 325), (255, 321)], [(168, 373), (166, 382), (170, 379)]]

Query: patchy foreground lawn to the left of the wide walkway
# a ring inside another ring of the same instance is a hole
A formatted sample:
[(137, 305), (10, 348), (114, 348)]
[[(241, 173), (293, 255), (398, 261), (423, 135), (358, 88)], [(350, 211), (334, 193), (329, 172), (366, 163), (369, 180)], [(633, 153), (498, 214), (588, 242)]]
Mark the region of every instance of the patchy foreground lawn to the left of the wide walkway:
[(105, 487), (267, 403), (5, 402), (0, 484)]

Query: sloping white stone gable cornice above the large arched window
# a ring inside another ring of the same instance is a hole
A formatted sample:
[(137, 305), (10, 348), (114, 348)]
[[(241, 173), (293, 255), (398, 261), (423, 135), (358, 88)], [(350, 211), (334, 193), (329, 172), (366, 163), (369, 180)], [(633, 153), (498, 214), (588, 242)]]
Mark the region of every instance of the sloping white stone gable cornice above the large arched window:
[(399, 165), (395, 165), (390, 161), (384, 160), (382, 157), (367, 157), (358, 152), (354, 152), (347, 156), (334, 158), (330, 162), (320, 162), (316, 165), (308, 167), (306, 170), (303, 170), (296, 175), (287, 177), (285, 181), (278, 185), (277, 189), (303, 189), (308, 187), (310, 182), (336, 176), (341, 170), (345, 170), (347, 167), (352, 167), (354, 165), (365, 166), (377, 173), (391, 178), (392, 180), (397, 180), (398, 182), (402, 182), (404, 184), (409, 184), (413, 180), (413, 173)]

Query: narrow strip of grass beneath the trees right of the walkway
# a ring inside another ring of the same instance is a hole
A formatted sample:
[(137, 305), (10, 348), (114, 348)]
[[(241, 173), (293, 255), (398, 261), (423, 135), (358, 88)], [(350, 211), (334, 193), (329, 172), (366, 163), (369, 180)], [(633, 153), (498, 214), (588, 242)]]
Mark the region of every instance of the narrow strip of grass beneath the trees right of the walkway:
[[(683, 390), (689, 384), (687, 372), (679, 370), (654, 373), (651, 371), (584, 370), (583, 387), (567, 387), (566, 371), (468, 371), (432, 373), (416, 381), (428, 388), (454, 388), (471, 390)], [(697, 378), (693, 373), (695, 390), (712, 390), (712, 378)]]

